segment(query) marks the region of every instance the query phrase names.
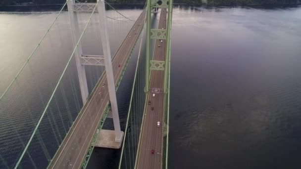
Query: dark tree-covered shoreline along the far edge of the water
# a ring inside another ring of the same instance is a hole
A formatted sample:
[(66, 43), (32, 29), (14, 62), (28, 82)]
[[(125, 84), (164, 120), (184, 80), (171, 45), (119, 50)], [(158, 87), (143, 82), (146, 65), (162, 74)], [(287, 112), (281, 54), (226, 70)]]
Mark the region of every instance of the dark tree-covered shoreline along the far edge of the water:
[[(79, 0), (95, 2), (96, 0)], [(142, 3), (142, 0), (106, 0), (110, 3), (128, 4)], [(65, 0), (0, 0), (0, 5), (40, 5), (40, 4), (61, 4)], [(201, 0), (174, 0), (174, 3), (201, 4)], [(207, 0), (211, 5), (248, 5), (248, 4), (297, 4), (301, 0)]]

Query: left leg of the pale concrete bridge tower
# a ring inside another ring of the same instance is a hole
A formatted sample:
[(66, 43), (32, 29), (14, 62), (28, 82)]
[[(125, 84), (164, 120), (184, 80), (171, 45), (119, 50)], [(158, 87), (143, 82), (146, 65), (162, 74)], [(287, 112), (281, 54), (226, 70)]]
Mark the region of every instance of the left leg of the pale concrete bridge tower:
[[(69, 19), (71, 24), (73, 47), (75, 48), (80, 37), (80, 32), (79, 32), (79, 26), (77, 20), (77, 13), (74, 11), (73, 4), (74, 4), (74, 0), (68, 0), (67, 2), (68, 14), (69, 14)], [(74, 54), (75, 54), (76, 68), (77, 68), (77, 74), (78, 74), (83, 104), (85, 105), (85, 103), (87, 102), (87, 98), (89, 96), (89, 91), (87, 85), (85, 66), (82, 65), (80, 61), (80, 57), (83, 54), (81, 42), (78, 43), (77, 49), (75, 50)]]

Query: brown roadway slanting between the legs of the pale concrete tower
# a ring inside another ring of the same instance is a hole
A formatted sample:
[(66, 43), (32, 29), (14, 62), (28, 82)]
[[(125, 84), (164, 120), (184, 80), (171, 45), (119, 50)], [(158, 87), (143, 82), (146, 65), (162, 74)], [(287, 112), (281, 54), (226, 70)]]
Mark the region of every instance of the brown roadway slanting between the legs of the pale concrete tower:
[[(146, 10), (143, 10), (115, 54), (112, 61), (115, 83), (121, 78), (126, 61), (143, 29), (145, 15)], [(91, 94), (90, 99), (85, 104), (83, 112), (79, 114), (73, 127), (53, 157), (49, 166), (50, 169), (79, 169), (81, 167), (82, 161), (87, 154), (94, 133), (109, 101), (107, 85), (103, 86), (103, 84), (107, 84), (105, 75), (100, 78), (100, 83), (96, 86), (94, 93)]]

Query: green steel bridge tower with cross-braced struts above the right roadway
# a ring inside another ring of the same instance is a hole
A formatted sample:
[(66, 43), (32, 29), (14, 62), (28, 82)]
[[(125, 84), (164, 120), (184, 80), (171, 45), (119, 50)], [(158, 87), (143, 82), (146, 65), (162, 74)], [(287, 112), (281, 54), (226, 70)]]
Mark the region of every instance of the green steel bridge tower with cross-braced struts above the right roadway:
[[(173, 0), (147, 0), (147, 57), (146, 57), (146, 86), (145, 91), (150, 89), (150, 71), (164, 71), (164, 110), (163, 110), (163, 153), (162, 153), (162, 169), (168, 168), (168, 134), (169, 134), (169, 86), (170, 86), (170, 36), (171, 36), (171, 21), (172, 21), (172, 5)], [(151, 10), (152, 8), (167, 8), (167, 28), (166, 30), (151, 28)], [(151, 55), (151, 39), (162, 39), (165, 41), (165, 61), (150, 60)], [(147, 93), (149, 94), (149, 93)], [(140, 135), (141, 136), (141, 135)], [(140, 145), (140, 138), (139, 144)], [(139, 148), (137, 152), (138, 157)], [(137, 159), (136, 159), (137, 161)], [(135, 164), (136, 165), (136, 164)], [(135, 166), (136, 167), (136, 166)]]

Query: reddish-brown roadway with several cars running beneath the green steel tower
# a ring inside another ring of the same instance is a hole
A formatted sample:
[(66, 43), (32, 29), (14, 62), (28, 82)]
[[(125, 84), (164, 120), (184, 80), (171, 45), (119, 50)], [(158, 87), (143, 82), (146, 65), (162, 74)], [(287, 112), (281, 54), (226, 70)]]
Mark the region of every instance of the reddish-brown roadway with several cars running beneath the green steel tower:
[[(161, 9), (159, 29), (166, 29), (166, 8)], [(156, 41), (153, 60), (165, 60), (165, 40)], [(160, 47), (158, 47), (158, 44)], [(148, 104), (145, 110), (142, 136), (138, 150), (137, 169), (161, 169), (163, 149), (163, 103), (164, 71), (151, 71), (151, 85), (148, 93)], [(155, 93), (155, 97), (152, 94)], [(154, 107), (154, 110), (151, 110)], [(160, 127), (157, 127), (160, 122)], [(154, 154), (151, 154), (154, 150)]]

